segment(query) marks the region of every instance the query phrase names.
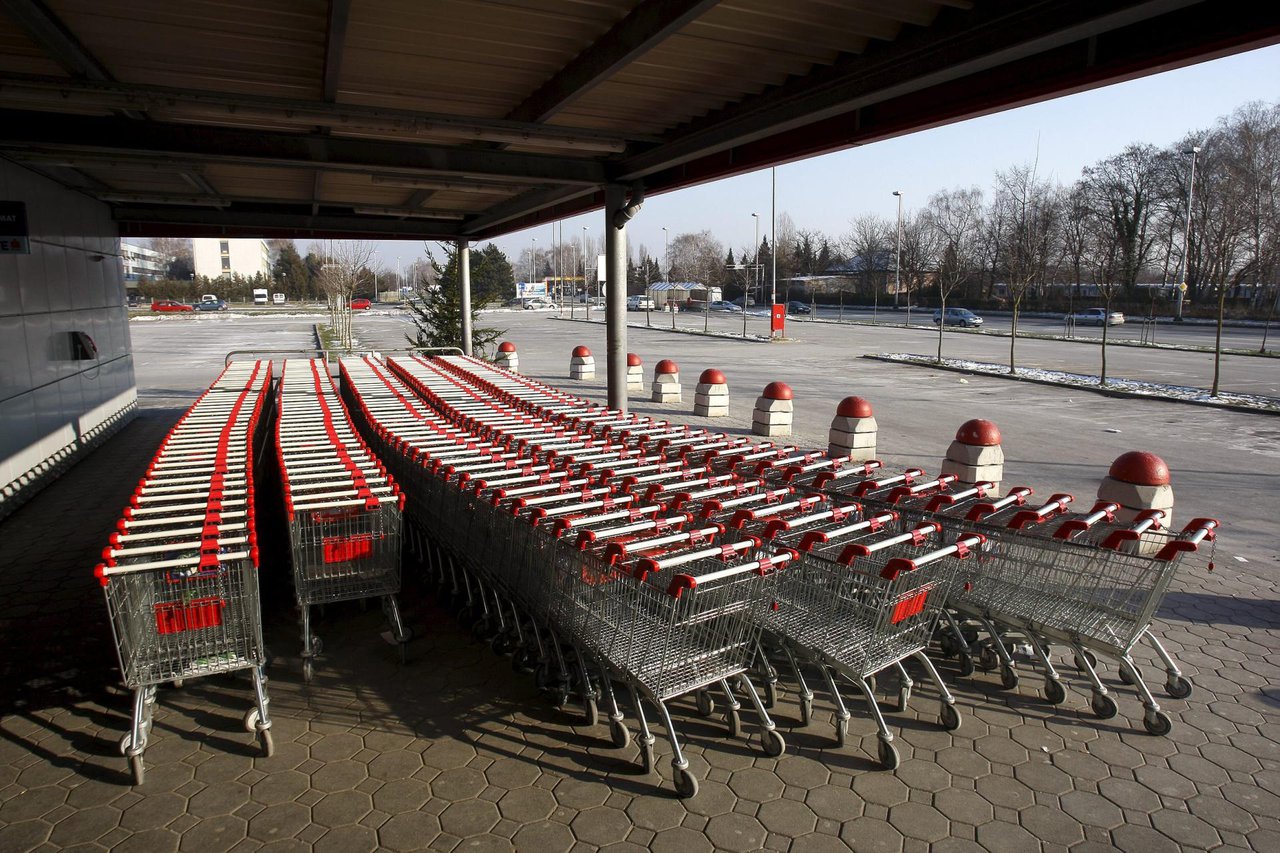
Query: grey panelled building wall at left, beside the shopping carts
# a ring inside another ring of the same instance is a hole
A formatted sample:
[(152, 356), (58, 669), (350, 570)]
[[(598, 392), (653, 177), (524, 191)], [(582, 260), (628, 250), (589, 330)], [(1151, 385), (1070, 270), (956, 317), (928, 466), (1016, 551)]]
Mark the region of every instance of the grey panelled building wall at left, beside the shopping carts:
[[(0, 255), (0, 517), (137, 406), (119, 237), (106, 205), (0, 160), (29, 255)], [(74, 360), (84, 332), (97, 359)]]

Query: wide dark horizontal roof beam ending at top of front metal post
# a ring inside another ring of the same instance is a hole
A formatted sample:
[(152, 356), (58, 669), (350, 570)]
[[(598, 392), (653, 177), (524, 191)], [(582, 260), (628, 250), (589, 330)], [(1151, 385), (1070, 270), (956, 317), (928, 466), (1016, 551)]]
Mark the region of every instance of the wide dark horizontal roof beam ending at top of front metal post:
[(387, 142), (355, 137), (244, 131), (189, 124), (146, 124), (118, 118), (0, 110), (0, 149), (22, 159), (20, 149), (60, 150), (101, 158), (232, 161), (344, 172), (517, 178), (531, 183), (598, 186), (604, 165), (595, 160), (517, 151)]

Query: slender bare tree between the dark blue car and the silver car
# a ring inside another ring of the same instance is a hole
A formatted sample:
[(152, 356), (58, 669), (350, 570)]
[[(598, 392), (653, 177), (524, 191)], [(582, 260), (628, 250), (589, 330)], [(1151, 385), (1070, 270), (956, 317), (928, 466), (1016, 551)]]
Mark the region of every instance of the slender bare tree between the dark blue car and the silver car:
[(1039, 179), (1032, 163), (996, 173), (996, 207), (1001, 209), (1007, 223), (1002, 268), (1014, 313), (1009, 373), (1016, 373), (1018, 314), (1032, 284), (1044, 280), (1057, 243), (1061, 200), (1053, 186)]

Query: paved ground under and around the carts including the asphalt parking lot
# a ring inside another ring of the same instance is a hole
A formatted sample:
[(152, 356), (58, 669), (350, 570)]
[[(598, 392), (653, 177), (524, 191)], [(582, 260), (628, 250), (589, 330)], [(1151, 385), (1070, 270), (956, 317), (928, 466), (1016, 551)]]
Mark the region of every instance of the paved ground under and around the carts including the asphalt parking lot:
[[(370, 318), (358, 332), (374, 341), (390, 334), (390, 323)], [(593, 342), (582, 327), (541, 318), (507, 324), (526, 370), (566, 386), (568, 347)], [(168, 351), (165, 336), (179, 328), (192, 361), (197, 351), (215, 356), (262, 339), (257, 325), (238, 323), (136, 324), (140, 377), (164, 380), (143, 393), (169, 389), (156, 400), (184, 391), (189, 400), (216, 373), (159, 356), (147, 365), (146, 353)], [(306, 329), (276, 342), (306, 346)], [(662, 777), (640, 775), (634, 747), (614, 751), (603, 726), (576, 727), (460, 631), (412, 565), (404, 602), (417, 639), (408, 665), (378, 638), (376, 607), (332, 607), (320, 625), (320, 674), (305, 686), (287, 569), (265, 533), (276, 754), (255, 757), (239, 727), (244, 679), (189, 683), (161, 692), (147, 783), (133, 789), (115, 747), (128, 697), (114, 686), (90, 569), (178, 414), (152, 409), (0, 525), (0, 695), (13, 697), (0, 708), (0, 850), (1280, 849), (1274, 420), (997, 380), (961, 386), (837, 360), (822, 343), (731, 346), (648, 332), (632, 336), (632, 350), (646, 364), (680, 360), (686, 391), (701, 368), (724, 369), (739, 394), (735, 416), (721, 424), (730, 430), (741, 430), (767, 378), (796, 387), (805, 441), (824, 432), (836, 400), (863, 393), (877, 405), (891, 462), (938, 459), (974, 415), (1005, 426), (1009, 479), (1038, 489), (1088, 496), (1117, 452), (1138, 444), (1164, 455), (1181, 517), (1216, 510), (1231, 520), (1217, 569), (1180, 575), (1160, 615), (1161, 635), (1197, 684), (1185, 701), (1161, 695), (1171, 735), (1142, 731), (1139, 704), (1115, 680), (1120, 715), (1098, 721), (1069, 666), (1068, 699), (1053, 708), (1030, 676), (1006, 692), (989, 674), (964, 679), (948, 663), (964, 725), (937, 729), (936, 702), (919, 689), (909, 712), (892, 715), (904, 753), (896, 774), (876, 770), (863, 752), (874, 747), (874, 729), (858, 703), (850, 745), (840, 749), (829, 703), (819, 698), (817, 720), (803, 727), (785, 694), (776, 717), (790, 749), (780, 760), (763, 757), (754, 740), (727, 739), (718, 717), (701, 720), (682, 704), (677, 726), (704, 783), (696, 799), (680, 802), (663, 743)], [(575, 389), (598, 394), (602, 384)], [(636, 409), (673, 415), (687, 405)]]

